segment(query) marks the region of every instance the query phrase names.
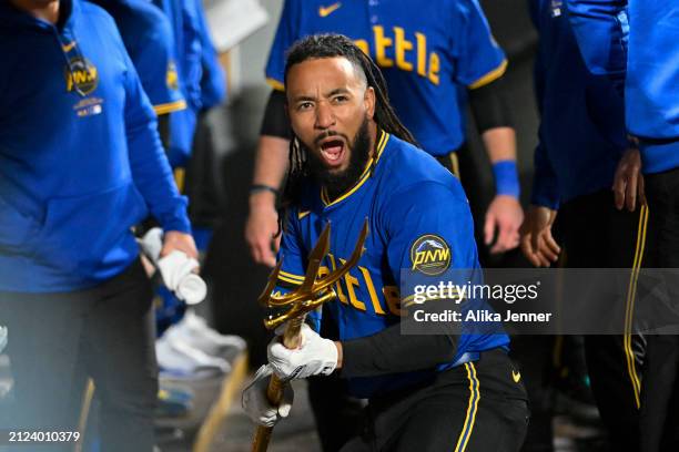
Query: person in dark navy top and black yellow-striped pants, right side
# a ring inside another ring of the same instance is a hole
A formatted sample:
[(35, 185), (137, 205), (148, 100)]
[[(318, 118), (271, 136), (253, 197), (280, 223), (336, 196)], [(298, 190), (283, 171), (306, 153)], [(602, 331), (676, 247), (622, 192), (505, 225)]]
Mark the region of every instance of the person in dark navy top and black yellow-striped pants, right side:
[[(638, 266), (647, 209), (635, 191), (624, 189), (626, 174), (616, 175), (618, 162), (637, 152), (627, 140), (622, 99), (610, 80), (587, 71), (560, 1), (531, 0), (530, 12), (540, 37), (535, 76), (541, 122), (521, 248), (538, 267), (555, 263), (558, 212), (567, 267)], [(626, 302), (610, 306), (629, 308), (634, 292), (620, 296)], [(631, 332), (585, 337), (591, 389), (617, 451), (639, 450), (643, 341)]]

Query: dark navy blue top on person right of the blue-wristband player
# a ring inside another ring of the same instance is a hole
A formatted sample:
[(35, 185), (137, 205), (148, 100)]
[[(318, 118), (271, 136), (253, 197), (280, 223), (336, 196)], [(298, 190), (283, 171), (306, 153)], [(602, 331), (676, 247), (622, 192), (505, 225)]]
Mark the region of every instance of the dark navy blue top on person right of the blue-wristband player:
[(539, 32), (535, 64), (540, 111), (531, 203), (559, 203), (610, 189), (627, 147), (625, 105), (614, 83), (585, 65), (560, 0), (530, 0)]

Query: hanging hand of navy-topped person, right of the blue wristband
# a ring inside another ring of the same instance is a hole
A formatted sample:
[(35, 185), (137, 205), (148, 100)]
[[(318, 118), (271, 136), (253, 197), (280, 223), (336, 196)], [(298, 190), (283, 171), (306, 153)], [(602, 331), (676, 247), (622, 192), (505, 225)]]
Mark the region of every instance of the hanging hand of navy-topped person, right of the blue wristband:
[(536, 267), (549, 267), (556, 263), (561, 247), (551, 236), (551, 225), (557, 210), (544, 206), (531, 205), (521, 225), (521, 251), (530, 264)]

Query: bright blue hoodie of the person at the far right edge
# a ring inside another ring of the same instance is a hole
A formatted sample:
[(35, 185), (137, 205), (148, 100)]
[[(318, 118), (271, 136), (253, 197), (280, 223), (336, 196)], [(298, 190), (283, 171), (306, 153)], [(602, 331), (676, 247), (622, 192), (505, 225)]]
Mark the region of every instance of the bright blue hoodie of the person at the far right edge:
[(568, 0), (582, 56), (597, 74), (625, 80), (626, 121), (642, 171), (679, 167), (679, 3)]

